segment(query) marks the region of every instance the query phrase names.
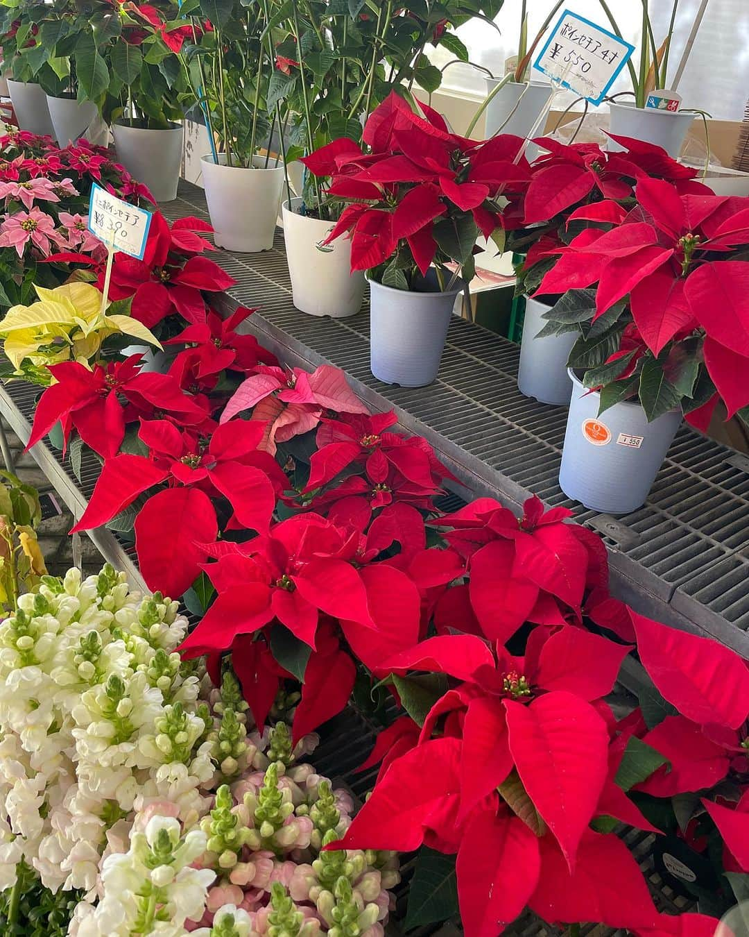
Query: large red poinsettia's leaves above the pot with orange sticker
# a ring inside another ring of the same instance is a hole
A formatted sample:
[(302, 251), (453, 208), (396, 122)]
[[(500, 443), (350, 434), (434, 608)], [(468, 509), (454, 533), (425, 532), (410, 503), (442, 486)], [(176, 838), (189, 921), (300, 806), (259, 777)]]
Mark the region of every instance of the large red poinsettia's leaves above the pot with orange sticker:
[[(641, 179), (637, 205), (596, 206), (608, 231), (580, 231), (553, 248), (537, 294), (565, 296), (550, 319), (589, 321), (570, 354), (601, 411), (638, 398), (649, 420), (681, 407), (706, 428), (719, 400), (749, 416), (749, 199), (682, 194)], [(590, 213), (587, 215), (590, 217)]]

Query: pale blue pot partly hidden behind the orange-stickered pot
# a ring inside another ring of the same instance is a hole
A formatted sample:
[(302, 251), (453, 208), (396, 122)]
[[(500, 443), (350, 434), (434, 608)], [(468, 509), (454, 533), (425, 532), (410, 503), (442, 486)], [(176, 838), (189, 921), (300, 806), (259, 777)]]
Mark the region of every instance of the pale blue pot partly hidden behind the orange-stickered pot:
[(518, 389), (521, 394), (535, 397), (542, 404), (567, 407), (572, 393), (567, 359), (580, 332), (537, 338), (541, 329), (549, 324), (549, 320), (542, 317), (550, 309), (551, 305), (537, 299), (527, 297), (525, 300)]

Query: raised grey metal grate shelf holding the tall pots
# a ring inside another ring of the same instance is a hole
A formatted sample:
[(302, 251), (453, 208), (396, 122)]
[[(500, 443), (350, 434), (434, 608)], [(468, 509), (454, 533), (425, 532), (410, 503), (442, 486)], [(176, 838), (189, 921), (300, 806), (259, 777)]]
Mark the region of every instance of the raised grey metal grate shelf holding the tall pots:
[[(208, 220), (202, 189), (186, 182), (164, 212)], [(611, 523), (560, 489), (566, 409), (519, 393), (519, 352), (507, 339), (455, 317), (434, 383), (390, 386), (369, 370), (366, 307), (346, 320), (294, 308), (280, 231), (272, 250), (215, 256), (237, 280), (223, 300), (227, 310), (259, 307), (248, 329), (279, 357), (337, 364), (373, 409), (395, 409), (400, 424), (429, 439), (460, 479), (459, 493), (490, 495), (515, 508), (535, 493), (571, 508), (581, 524), (604, 535), (615, 594), (643, 614), (717, 638), (749, 658), (749, 460), (683, 426), (647, 503)]]

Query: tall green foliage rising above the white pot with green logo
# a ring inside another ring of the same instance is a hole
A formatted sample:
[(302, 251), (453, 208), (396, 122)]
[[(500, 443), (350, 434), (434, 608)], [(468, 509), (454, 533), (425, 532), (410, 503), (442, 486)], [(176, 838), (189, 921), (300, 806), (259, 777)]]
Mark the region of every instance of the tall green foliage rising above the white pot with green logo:
[[(275, 50), (271, 100), (290, 115), (289, 160), (339, 137), (359, 142), (369, 113), (395, 89), (411, 98), (436, 91), (443, 72), (428, 57), (442, 46), (458, 61), (468, 50), (457, 26), (492, 23), (503, 0), (271, 0), (266, 34)], [(308, 212), (335, 217), (340, 204), (307, 180)]]

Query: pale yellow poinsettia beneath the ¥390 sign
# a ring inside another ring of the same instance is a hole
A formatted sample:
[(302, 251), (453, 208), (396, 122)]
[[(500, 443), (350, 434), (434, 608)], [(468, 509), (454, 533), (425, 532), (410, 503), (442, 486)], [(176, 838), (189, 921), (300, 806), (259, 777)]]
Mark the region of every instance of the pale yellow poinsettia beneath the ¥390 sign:
[(105, 304), (91, 283), (74, 281), (54, 290), (39, 286), (35, 290), (37, 303), (12, 306), (0, 322), (0, 339), (15, 369), (13, 377), (49, 384), (48, 364), (77, 361), (90, 367), (110, 335), (128, 335), (161, 348), (142, 322), (125, 314), (129, 301)]

